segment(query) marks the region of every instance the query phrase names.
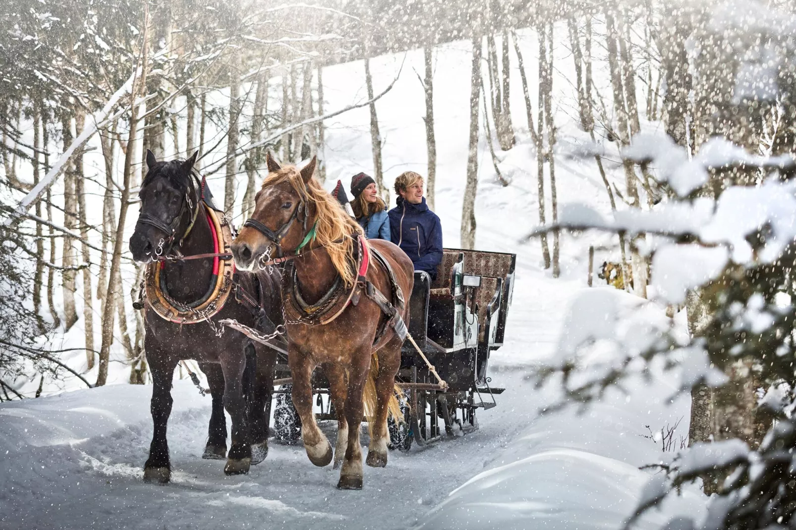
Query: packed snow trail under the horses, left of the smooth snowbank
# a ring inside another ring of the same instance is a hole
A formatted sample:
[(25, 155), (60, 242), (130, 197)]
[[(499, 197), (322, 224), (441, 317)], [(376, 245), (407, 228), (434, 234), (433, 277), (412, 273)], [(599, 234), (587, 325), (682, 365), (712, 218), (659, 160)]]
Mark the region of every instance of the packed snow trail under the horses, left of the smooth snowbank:
[[(272, 443), (248, 475), (225, 477), (223, 461), (201, 459), (210, 402), (188, 382), (174, 389), (169, 485), (142, 481), (150, 386), (4, 403), (0, 528), (407, 528), (533, 415), (511, 404), (530, 387), (519, 374), (500, 372), (494, 384), (509, 389), (479, 416), (480, 431), (391, 451), (386, 468), (365, 467), (361, 492), (338, 491), (338, 470), (314, 467), (300, 445)], [(334, 423), (323, 428), (334, 441)]]

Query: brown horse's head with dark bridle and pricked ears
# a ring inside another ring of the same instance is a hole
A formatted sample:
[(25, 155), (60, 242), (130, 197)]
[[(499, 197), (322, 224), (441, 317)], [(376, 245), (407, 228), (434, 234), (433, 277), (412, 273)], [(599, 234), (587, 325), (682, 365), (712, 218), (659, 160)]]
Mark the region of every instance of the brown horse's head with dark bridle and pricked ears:
[(261, 256), (282, 255), (295, 251), (314, 226), (314, 202), (310, 188), (319, 187), (312, 182), (315, 158), (302, 170), (295, 166), (279, 166), (271, 153), (266, 156), (268, 176), (255, 196), (252, 217), (244, 223), (232, 244), (235, 265), (251, 271)]

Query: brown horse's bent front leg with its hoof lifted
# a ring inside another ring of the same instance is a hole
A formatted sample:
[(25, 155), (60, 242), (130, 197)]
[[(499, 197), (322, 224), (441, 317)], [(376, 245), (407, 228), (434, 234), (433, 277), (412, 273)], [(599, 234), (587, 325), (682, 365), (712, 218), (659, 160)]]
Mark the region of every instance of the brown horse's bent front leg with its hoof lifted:
[(298, 349), (290, 348), (287, 355), (293, 376), (293, 404), (301, 417), (301, 438), (306, 456), (315, 466), (326, 466), (332, 461), (332, 446), (318, 428), (312, 412), (312, 371), (314, 361)]

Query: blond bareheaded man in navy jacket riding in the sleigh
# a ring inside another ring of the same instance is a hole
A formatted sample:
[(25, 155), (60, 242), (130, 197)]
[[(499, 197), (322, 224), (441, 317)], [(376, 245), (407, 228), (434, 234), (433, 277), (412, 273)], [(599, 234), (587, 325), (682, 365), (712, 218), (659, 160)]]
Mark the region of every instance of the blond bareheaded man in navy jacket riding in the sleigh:
[(433, 281), (443, 260), (443, 231), (423, 197), (423, 177), (414, 171), (401, 173), (395, 189), (398, 205), (388, 212), (392, 243), (412, 259), (416, 271), (427, 272)]

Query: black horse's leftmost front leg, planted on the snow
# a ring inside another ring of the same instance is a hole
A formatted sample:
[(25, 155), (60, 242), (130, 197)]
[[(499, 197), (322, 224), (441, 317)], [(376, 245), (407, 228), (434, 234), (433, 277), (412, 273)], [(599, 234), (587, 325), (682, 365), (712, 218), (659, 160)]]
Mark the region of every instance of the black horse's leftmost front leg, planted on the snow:
[(166, 425), (171, 415), (171, 380), (177, 360), (164, 351), (146, 350), (146, 360), (152, 372), (152, 443), (150, 456), (144, 464), (144, 481), (166, 484), (171, 479), (171, 463), (169, 462), (169, 443), (166, 441)]

